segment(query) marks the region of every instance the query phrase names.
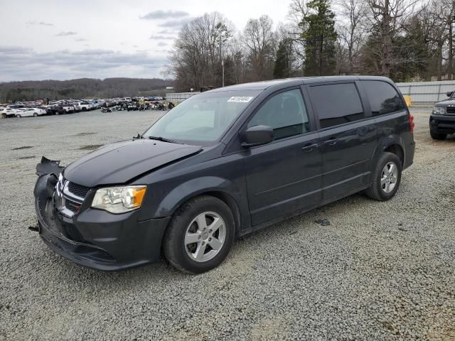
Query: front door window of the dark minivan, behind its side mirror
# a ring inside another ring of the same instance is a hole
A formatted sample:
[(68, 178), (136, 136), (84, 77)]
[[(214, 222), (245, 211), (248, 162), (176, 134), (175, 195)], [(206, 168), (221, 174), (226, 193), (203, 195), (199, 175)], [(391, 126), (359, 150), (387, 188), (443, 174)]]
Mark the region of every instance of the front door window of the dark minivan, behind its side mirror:
[(268, 99), (252, 117), (248, 128), (260, 125), (272, 127), (274, 140), (309, 131), (308, 114), (300, 90), (281, 92)]

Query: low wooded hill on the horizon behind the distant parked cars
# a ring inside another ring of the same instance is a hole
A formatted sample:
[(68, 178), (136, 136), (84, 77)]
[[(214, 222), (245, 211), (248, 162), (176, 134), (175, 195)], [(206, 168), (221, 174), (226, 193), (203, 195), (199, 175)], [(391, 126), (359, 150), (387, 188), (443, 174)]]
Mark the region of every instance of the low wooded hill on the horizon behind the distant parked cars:
[(35, 99), (78, 99), (85, 97), (134, 97), (166, 93), (172, 80), (159, 78), (106, 78), (95, 80), (27, 80), (0, 83), (0, 103), (33, 101)]

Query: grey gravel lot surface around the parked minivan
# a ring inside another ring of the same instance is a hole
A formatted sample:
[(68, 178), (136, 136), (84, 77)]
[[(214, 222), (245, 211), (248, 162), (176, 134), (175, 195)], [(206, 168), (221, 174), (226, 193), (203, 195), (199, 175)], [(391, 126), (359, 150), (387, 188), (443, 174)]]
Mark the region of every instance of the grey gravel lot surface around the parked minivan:
[(207, 274), (84, 269), (27, 229), (41, 156), (68, 164), (161, 114), (0, 119), (0, 340), (455, 340), (455, 138), (430, 139), (429, 109), (413, 110), (417, 154), (393, 200), (275, 224)]

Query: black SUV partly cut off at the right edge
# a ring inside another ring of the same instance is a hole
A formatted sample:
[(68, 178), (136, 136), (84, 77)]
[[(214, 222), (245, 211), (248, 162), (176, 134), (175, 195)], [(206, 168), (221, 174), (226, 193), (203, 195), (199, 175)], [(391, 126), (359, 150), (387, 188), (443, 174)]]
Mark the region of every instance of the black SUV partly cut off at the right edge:
[(447, 92), (448, 99), (434, 104), (429, 117), (429, 134), (435, 140), (444, 140), (455, 133), (455, 92)]

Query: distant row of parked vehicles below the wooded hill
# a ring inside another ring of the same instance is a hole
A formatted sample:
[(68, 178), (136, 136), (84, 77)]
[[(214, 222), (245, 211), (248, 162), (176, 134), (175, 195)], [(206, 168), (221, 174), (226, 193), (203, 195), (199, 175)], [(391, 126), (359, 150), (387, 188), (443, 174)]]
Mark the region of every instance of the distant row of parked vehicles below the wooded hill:
[[(7, 117), (38, 117), (41, 115), (72, 114), (74, 112), (87, 112), (103, 108), (106, 111), (110, 107), (124, 110), (154, 109), (164, 107), (158, 101), (163, 97), (122, 97), (112, 99), (63, 99), (54, 102), (16, 102), (14, 104), (0, 105), (2, 118)], [(155, 101), (156, 104), (151, 104)]]

